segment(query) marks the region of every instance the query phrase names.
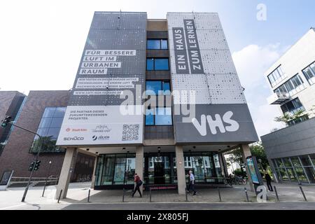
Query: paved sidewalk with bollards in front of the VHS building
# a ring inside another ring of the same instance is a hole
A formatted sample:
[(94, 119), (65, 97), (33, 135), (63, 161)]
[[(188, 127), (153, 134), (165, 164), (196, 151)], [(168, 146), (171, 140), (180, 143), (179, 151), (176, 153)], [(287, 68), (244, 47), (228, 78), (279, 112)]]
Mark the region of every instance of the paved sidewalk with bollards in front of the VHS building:
[[(247, 189), (248, 186), (245, 186)], [(276, 188), (279, 193), (280, 204), (286, 202), (302, 202), (304, 198), (300, 192), (300, 188), (297, 184), (276, 184)], [(308, 202), (315, 202), (315, 186), (302, 186)], [(63, 209), (71, 208), (76, 204), (87, 204), (87, 194), (90, 189), (90, 183), (71, 183), (68, 190), (66, 199), (61, 199), (57, 204), (55, 200), (55, 186), (48, 186), (45, 190), (45, 197), (41, 197), (43, 193), (43, 187), (29, 188), (25, 202), (21, 202), (22, 195), (25, 188), (8, 188), (6, 191), (0, 191), (0, 210), (1, 209)], [(218, 197), (217, 188), (197, 189), (197, 195), (188, 195), (188, 202), (186, 202), (186, 195), (178, 195), (176, 190), (158, 190), (152, 191), (151, 204), (248, 204), (246, 202), (246, 195), (244, 193), (244, 186), (234, 186), (233, 188), (221, 188), (220, 202)], [(123, 203), (123, 190), (90, 190), (90, 204), (150, 204), (150, 195), (148, 192), (144, 192), (143, 197), (139, 197), (137, 193), (134, 197), (131, 197), (132, 191), (127, 190), (125, 194), (125, 203)], [(268, 192), (267, 204), (276, 202), (276, 196), (274, 193)], [(250, 202), (257, 202), (255, 193), (248, 191), (248, 198)], [(305, 203), (305, 202), (304, 202)], [(256, 203), (249, 203), (256, 204)], [(314, 204), (313, 204), (314, 205)], [(70, 206), (70, 207), (69, 207)], [(82, 205), (82, 207), (84, 207)], [(94, 208), (97, 205), (94, 205)], [(101, 205), (99, 205), (102, 208)], [(128, 207), (128, 206), (123, 206)], [(204, 206), (205, 208), (211, 208)], [(220, 206), (221, 207), (221, 206)], [(224, 206), (223, 206), (224, 207)], [(242, 206), (244, 209), (246, 206)], [(308, 206), (311, 207), (311, 204)], [(76, 207), (73, 207), (76, 208)], [(78, 206), (78, 209), (80, 207)], [(172, 206), (170, 207), (172, 209)], [(189, 207), (190, 209), (190, 207)], [(314, 208), (315, 209), (315, 208)]]

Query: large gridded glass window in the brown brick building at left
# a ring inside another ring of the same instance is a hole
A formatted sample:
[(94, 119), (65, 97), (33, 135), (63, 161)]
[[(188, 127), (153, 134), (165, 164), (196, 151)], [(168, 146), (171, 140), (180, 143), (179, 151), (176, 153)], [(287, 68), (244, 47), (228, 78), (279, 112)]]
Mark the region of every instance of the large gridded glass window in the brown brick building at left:
[[(46, 107), (41, 118), (41, 123), (38, 125), (37, 133), (43, 139), (43, 146), (41, 152), (55, 153), (64, 152), (61, 148), (56, 146), (56, 141), (59, 135), (62, 120), (64, 119), (64, 113), (66, 107)], [(30, 152), (36, 153), (40, 147), (40, 141), (35, 136)]]

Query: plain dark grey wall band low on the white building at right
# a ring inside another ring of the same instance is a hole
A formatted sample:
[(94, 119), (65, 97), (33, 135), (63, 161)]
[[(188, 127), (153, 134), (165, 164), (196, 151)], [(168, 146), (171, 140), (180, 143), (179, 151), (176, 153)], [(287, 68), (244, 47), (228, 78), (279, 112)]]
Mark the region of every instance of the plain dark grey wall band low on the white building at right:
[(315, 153), (315, 118), (261, 138), (268, 159)]

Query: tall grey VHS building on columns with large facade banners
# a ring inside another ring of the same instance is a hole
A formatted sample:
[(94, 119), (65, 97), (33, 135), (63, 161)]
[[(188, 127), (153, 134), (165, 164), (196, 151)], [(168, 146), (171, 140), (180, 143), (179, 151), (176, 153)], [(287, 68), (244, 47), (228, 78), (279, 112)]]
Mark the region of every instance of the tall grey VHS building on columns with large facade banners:
[(198, 184), (222, 183), (222, 153), (246, 158), (255, 141), (217, 13), (95, 12), (57, 139), (56, 195), (76, 152), (96, 156), (94, 189), (133, 188), (136, 172), (144, 189), (184, 194), (189, 169)]

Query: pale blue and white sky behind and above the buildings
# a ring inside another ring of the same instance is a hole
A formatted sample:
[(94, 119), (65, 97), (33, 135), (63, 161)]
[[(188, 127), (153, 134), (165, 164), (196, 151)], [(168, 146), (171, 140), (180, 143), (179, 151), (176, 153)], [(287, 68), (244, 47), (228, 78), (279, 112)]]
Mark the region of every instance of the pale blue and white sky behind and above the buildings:
[(262, 136), (283, 127), (274, 122), (279, 108), (267, 104), (272, 92), (264, 73), (315, 27), (314, 8), (314, 0), (3, 1), (0, 90), (71, 89), (94, 11), (144, 11), (151, 19), (167, 12), (217, 12)]

